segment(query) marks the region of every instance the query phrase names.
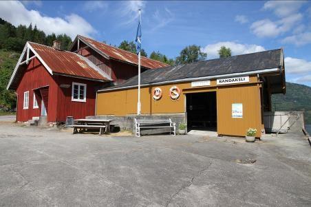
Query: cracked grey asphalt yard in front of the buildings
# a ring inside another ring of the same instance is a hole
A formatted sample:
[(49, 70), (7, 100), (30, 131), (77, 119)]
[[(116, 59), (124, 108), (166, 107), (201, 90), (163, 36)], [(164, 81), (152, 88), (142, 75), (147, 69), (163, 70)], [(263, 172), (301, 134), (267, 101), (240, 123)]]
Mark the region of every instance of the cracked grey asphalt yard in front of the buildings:
[(0, 206), (311, 206), (310, 192), (297, 133), (246, 143), (0, 123)]

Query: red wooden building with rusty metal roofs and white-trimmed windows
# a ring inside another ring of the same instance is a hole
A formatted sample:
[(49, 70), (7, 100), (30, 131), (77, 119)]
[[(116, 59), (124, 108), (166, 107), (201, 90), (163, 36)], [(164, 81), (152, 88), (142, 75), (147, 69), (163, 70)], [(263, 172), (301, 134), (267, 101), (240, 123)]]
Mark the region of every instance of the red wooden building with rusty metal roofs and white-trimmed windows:
[[(96, 90), (122, 83), (138, 71), (136, 54), (83, 36), (76, 37), (73, 52), (59, 48), (57, 41), (53, 47), (26, 43), (8, 84), (17, 93), (17, 121), (94, 116)], [(163, 66), (149, 58), (142, 61), (142, 71)]]

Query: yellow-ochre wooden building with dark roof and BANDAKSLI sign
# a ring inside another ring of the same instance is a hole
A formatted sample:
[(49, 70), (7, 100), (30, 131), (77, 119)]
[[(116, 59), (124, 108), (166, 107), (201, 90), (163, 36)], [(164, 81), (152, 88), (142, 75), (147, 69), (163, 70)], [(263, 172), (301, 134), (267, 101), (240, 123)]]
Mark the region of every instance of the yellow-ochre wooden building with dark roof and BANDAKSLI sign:
[[(175, 118), (188, 131), (244, 136), (264, 131), (271, 94), (286, 92), (283, 50), (151, 69), (141, 74), (141, 116)], [(96, 116), (136, 116), (138, 77), (98, 90)], [(112, 118), (112, 119), (114, 119)]]

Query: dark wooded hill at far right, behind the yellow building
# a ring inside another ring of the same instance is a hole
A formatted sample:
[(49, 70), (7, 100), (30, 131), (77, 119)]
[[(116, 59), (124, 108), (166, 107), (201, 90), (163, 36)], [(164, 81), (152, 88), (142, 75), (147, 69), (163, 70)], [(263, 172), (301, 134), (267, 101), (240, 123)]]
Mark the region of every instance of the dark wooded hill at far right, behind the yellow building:
[(272, 95), (273, 111), (305, 111), (305, 123), (311, 124), (311, 87), (286, 83), (286, 95)]

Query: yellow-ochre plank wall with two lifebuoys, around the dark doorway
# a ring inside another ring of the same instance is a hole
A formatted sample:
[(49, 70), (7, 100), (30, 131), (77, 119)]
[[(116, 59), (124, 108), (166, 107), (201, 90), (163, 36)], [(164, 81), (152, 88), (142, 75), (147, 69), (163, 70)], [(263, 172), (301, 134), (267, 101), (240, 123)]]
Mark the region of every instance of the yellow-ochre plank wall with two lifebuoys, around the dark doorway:
[[(171, 100), (169, 89), (178, 86), (182, 92), (178, 100)], [(156, 87), (162, 89), (162, 98), (153, 100), (152, 91)], [(216, 80), (211, 80), (211, 86), (191, 87), (191, 83), (176, 83), (142, 87), (142, 114), (184, 113), (186, 112), (185, 94), (206, 91), (216, 91), (217, 96), (217, 133), (223, 135), (246, 135), (250, 127), (257, 129), (257, 137), (261, 137), (261, 100), (260, 83), (257, 76), (250, 76), (250, 83), (217, 86)], [(127, 116), (136, 114), (136, 89), (118, 91), (102, 91), (97, 96), (96, 115)], [(243, 118), (232, 118), (232, 104), (243, 104)]]

